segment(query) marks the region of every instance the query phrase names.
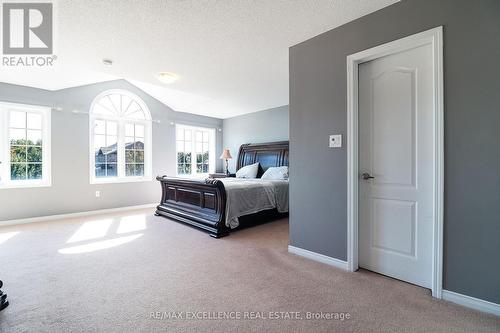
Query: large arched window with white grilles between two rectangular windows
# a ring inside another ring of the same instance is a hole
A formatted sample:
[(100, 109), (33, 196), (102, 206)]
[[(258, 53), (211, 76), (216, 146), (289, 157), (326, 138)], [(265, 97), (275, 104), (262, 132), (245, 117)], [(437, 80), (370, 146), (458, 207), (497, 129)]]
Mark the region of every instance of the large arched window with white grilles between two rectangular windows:
[(89, 121), (91, 183), (151, 180), (151, 114), (138, 96), (99, 94)]

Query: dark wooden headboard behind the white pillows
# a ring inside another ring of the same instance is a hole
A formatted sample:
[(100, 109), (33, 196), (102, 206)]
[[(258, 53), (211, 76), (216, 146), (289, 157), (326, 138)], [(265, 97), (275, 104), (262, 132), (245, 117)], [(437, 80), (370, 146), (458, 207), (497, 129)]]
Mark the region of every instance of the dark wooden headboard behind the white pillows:
[(240, 147), (236, 170), (259, 162), (257, 177), (260, 178), (270, 167), (288, 166), (288, 155), (288, 141), (247, 143)]

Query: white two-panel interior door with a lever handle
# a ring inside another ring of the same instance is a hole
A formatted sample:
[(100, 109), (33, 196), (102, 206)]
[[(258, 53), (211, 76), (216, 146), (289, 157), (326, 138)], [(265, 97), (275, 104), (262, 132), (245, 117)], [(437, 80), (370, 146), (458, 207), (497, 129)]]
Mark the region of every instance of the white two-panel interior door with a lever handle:
[(427, 288), (433, 89), (430, 44), (359, 65), (359, 266)]

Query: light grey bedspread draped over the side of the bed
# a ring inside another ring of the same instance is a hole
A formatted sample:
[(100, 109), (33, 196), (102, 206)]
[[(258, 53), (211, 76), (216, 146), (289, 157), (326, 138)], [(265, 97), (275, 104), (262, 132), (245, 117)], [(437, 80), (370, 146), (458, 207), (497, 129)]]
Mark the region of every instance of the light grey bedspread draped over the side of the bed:
[(288, 180), (268, 179), (219, 179), (226, 188), (226, 225), (238, 227), (238, 218), (276, 208), (288, 212)]

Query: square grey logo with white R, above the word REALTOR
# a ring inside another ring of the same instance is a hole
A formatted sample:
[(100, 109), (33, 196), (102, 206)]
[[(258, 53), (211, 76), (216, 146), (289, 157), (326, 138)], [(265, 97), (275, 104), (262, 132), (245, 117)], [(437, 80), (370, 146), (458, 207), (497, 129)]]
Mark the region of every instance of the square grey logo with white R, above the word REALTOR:
[(52, 54), (52, 3), (4, 3), (2, 21), (4, 54)]

